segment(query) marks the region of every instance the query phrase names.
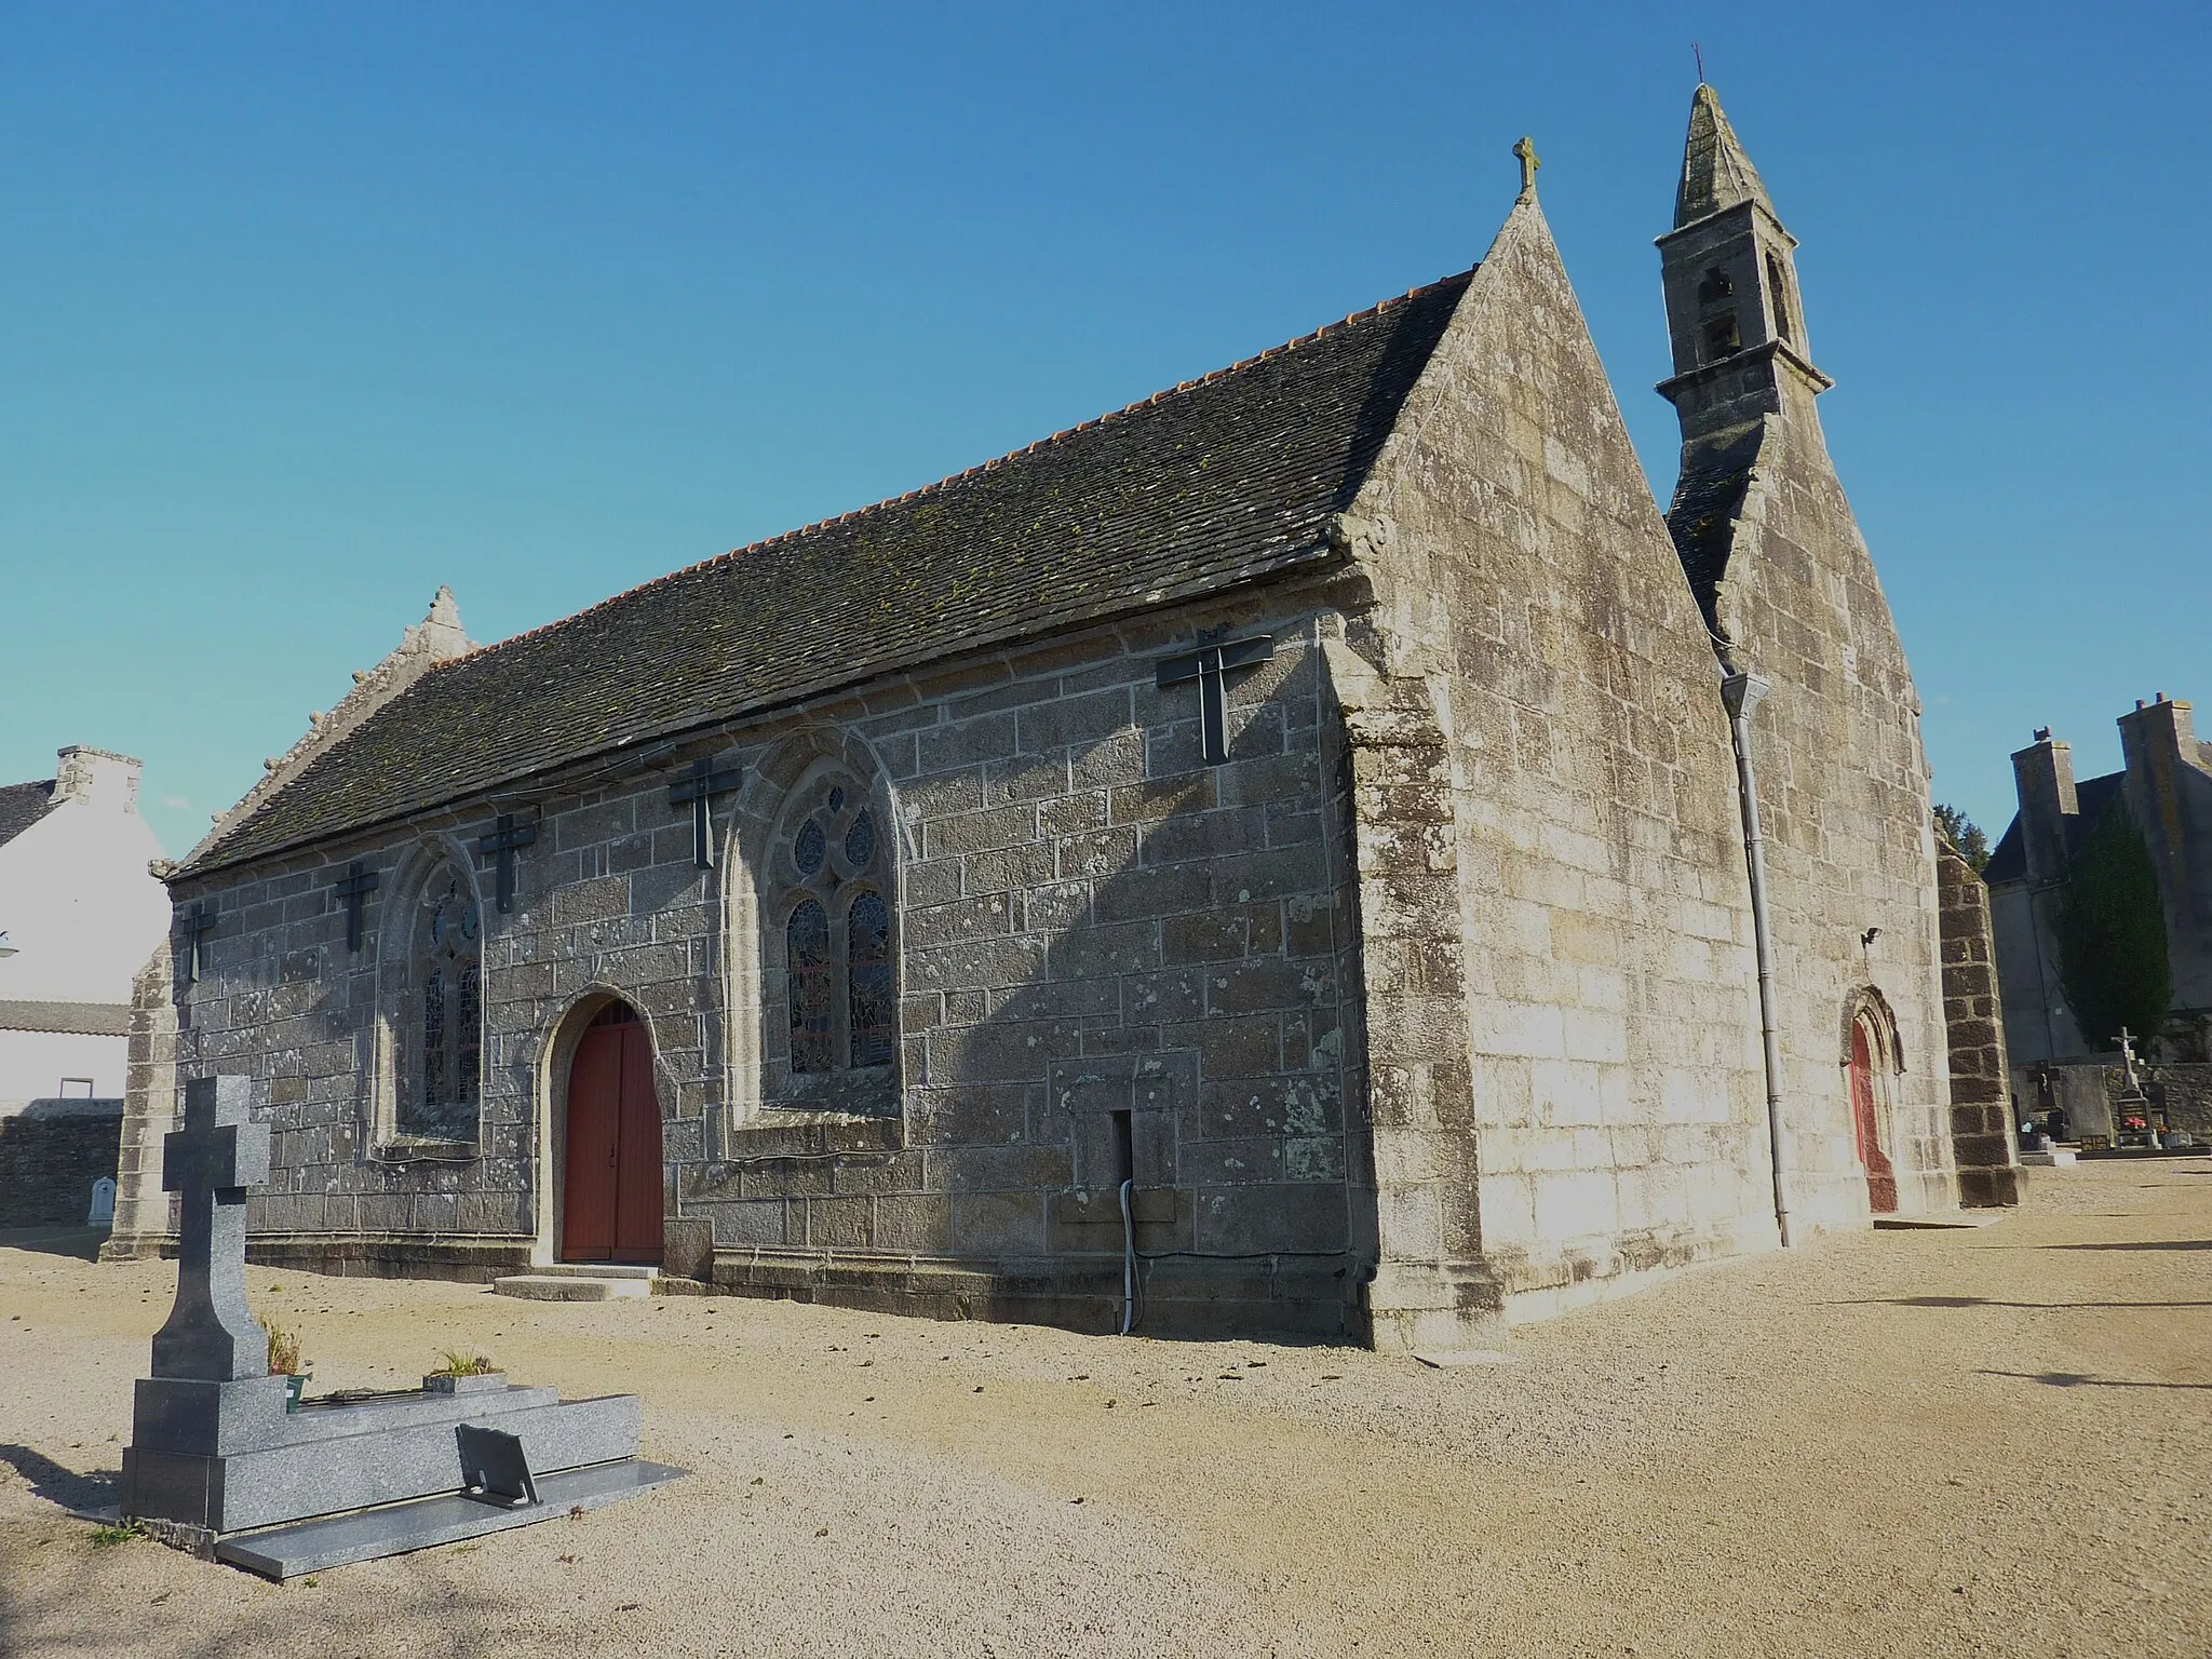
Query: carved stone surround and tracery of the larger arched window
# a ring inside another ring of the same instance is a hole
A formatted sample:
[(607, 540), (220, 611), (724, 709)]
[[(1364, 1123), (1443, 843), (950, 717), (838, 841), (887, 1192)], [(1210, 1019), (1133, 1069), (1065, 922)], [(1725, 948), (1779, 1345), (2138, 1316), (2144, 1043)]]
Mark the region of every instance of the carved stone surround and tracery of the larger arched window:
[[(807, 726), (779, 739), (748, 770), (730, 810), (723, 845), (723, 896), (728, 933), (728, 1099), (732, 1126), (757, 1121), (763, 1110), (834, 1110), (843, 1115), (896, 1115), (898, 1035), (880, 1066), (854, 1066), (849, 1026), (834, 1033), (834, 1077), (794, 1075), (790, 1046), (790, 938), (787, 927), (803, 874), (785, 845), (803, 818), (825, 810), (832, 790), (847, 794), (836, 821), (845, 827), (865, 812), (878, 838), (878, 854), (863, 876), (845, 878), (843, 849), (825, 858), (838, 883), (818, 891), (832, 933), (832, 949), (849, 945), (849, 907), (860, 891), (876, 891), (887, 918), (889, 1004), (898, 998), (900, 880), (914, 858), (911, 825), (902, 821), (889, 772), (876, 750), (854, 732)], [(838, 1018), (849, 1015), (849, 982), (836, 980)]]

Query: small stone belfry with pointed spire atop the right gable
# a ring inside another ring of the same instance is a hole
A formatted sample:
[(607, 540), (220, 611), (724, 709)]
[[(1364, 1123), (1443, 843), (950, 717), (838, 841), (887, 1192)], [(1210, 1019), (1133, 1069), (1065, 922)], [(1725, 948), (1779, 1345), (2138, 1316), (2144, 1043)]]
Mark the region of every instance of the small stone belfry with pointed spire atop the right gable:
[(1683, 447), (1725, 440), (1767, 414), (1812, 414), (1834, 385), (1812, 363), (1792, 237), (1719, 95), (1690, 100), (1674, 228), (1659, 237), (1674, 374), (1659, 385)]

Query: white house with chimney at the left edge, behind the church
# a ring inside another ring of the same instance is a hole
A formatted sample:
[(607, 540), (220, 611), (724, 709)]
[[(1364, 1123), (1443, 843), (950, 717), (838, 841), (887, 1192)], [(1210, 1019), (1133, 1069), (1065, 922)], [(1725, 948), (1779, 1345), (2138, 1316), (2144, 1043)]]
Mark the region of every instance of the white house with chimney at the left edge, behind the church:
[(73, 745), (51, 779), (0, 785), (0, 1117), (119, 1099), (131, 975), (168, 936), (139, 763)]

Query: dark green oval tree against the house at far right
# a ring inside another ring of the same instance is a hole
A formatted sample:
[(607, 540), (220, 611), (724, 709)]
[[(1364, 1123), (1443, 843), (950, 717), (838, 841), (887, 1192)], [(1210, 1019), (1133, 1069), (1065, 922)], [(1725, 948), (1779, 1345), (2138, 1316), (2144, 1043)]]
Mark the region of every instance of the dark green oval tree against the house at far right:
[(2059, 982), (2093, 1048), (2117, 1048), (2126, 1026), (2154, 1037), (2174, 975), (2166, 960), (2159, 874), (2126, 803), (2115, 803), (2066, 860), (2055, 931)]

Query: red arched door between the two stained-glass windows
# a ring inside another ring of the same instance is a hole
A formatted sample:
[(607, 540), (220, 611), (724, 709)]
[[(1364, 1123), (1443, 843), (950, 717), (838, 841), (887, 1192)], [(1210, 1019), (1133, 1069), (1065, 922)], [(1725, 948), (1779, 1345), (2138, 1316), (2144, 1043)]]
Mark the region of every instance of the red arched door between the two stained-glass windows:
[(661, 1106), (637, 1011), (606, 1004), (568, 1062), (562, 1261), (661, 1259)]

